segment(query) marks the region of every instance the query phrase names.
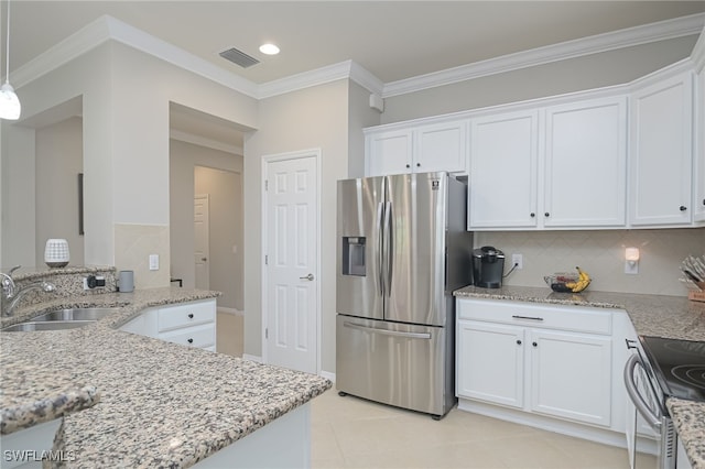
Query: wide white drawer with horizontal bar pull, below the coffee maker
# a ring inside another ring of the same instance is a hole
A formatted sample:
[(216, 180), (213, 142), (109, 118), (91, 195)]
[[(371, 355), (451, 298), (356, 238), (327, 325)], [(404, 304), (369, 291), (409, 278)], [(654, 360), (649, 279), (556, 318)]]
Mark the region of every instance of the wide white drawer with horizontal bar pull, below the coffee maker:
[(611, 335), (609, 309), (583, 306), (546, 306), (528, 302), (458, 299), (458, 319), (486, 320), (524, 327)]

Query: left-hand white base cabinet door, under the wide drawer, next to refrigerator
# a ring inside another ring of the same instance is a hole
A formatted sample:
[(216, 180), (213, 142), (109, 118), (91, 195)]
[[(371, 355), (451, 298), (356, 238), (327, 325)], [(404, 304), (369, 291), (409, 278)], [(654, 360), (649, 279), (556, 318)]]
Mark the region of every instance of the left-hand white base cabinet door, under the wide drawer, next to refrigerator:
[(523, 328), (458, 320), (456, 394), (523, 406)]

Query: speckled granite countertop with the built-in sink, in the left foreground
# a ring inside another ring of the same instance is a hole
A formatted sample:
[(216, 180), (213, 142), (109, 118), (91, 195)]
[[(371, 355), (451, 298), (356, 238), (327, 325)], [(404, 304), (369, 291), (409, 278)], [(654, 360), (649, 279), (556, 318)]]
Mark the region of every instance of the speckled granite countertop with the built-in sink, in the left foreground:
[(7, 326), (50, 308), (121, 306), (77, 329), (2, 332), (2, 434), (63, 416), (69, 467), (188, 467), (332, 386), (314, 374), (117, 330), (144, 308), (215, 296), (107, 293), (3, 318)]

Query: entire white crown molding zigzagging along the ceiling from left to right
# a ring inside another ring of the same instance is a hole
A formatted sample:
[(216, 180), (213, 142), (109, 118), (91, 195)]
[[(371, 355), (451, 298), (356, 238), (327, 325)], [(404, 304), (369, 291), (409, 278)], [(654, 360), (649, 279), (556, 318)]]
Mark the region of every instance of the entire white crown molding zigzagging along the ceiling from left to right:
[[(20, 88), (98, 45), (113, 40), (256, 99), (269, 98), (337, 79), (351, 79), (370, 92), (387, 98), (519, 68), (697, 34), (703, 31), (704, 25), (705, 13), (698, 13), (509, 54), (388, 84), (383, 84), (361, 65), (346, 61), (257, 85), (112, 17), (104, 15), (19, 67), (13, 72), (12, 80), (15, 88)], [(703, 42), (703, 35), (701, 35), (698, 46), (694, 50), (695, 61), (701, 64), (701, 67), (705, 62)]]

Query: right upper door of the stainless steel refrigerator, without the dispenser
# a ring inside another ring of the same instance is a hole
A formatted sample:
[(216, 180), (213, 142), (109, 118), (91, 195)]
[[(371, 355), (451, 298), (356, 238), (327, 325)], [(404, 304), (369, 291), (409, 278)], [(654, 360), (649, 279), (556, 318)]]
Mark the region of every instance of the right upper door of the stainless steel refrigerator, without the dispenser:
[(446, 173), (386, 176), (384, 319), (446, 325)]

